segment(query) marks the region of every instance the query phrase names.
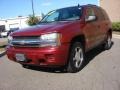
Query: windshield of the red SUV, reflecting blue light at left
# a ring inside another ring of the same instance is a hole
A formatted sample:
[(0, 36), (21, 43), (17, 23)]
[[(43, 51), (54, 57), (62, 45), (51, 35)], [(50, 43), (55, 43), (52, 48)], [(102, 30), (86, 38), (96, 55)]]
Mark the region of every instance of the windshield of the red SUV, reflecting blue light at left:
[(41, 22), (54, 21), (73, 21), (79, 20), (82, 15), (82, 9), (79, 7), (64, 8), (49, 12)]

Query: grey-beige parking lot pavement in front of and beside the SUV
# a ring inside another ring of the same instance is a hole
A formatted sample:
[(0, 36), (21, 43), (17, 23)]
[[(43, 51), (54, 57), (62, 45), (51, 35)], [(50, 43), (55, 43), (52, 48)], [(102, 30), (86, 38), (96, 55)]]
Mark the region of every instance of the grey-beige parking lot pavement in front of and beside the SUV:
[(0, 90), (120, 90), (120, 39), (113, 42), (110, 50), (89, 52), (78, 73), (25, 69), (0, 57)]

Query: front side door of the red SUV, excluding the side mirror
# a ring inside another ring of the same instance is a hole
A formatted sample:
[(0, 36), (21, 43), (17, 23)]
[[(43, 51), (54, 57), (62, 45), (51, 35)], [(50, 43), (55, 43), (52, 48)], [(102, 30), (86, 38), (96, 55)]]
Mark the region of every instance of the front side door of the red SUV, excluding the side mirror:
[[(89, 16), (96, 16), (94, 8), (92, 7), (86, 7), (85, 9), (85, 18), (88, 18)], [(84, 27), (84, 34), (86, 38), (86, 48), (92, 49), (97, 45), (98, 35), (99, 35), (99, 28), (97, 26), (96, 20), (85, 22)]]

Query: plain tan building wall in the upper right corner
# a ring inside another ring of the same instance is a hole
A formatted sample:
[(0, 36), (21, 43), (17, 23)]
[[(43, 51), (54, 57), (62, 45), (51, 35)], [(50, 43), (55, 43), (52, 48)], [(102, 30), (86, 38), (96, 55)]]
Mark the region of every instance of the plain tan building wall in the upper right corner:
[(120, 0), (100, 0), (100, 6), (106, 10), (112, 22), (120, 22)]

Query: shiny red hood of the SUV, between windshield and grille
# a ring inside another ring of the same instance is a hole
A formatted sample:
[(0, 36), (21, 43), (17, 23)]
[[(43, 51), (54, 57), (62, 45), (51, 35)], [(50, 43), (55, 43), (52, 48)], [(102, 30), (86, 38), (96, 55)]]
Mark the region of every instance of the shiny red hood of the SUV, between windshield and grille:
[(39, 36), (44, 33), (61, 32), (65, 26), (68, 26), (72, 23), (72, 21), (41, 23), (39, 25), (13, 32), (12, 36)]

